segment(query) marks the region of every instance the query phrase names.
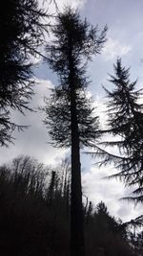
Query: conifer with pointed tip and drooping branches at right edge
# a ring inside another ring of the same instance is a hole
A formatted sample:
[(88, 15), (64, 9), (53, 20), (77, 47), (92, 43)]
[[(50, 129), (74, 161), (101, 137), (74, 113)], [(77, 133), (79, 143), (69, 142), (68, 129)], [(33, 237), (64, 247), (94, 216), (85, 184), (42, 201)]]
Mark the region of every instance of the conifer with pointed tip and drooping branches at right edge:
[(130, 81), (130, 69), (122, 67), (118, 58), (114, 65), (115, 76), (110, 81), (115, 88), (109, 91), (105, 88), (108, 102), (108, 128), (103, 133), (111, 134), (116, 140), (103, 142), (109, 149), (118, 150), (114, 155), (110, 152), (96, 148), (96, 154), (102, 157), (101, 165), (113, 162), (119, 172), (112, 177), (119, 177), (129, 186), (137, 185), (133, 191), (139, 195), (133, 199), (142, 201), (143, 192), (143, 105), (139, 103), (142, 90), (135, 90), (136, 81)]

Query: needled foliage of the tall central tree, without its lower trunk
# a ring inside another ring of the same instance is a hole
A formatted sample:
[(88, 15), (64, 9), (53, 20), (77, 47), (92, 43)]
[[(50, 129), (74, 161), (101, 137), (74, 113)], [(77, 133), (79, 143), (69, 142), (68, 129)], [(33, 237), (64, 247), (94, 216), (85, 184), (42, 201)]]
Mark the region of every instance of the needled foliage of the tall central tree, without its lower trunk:
[(58, 75), (59, 85), (51, 90), (50, 98), (45, 98), (44, 110), (45, 124), (56, 147), (70, 147), (72, 143), (72, 91), (80, 146), (89, 146), (98, 137), (98, 117), (94, 114), (92, 99), (87, 97), (90, 81), (86, 76), (86, 61), (101, 52), (106, 31), (107, 27), (98, 35), (98, 27), (92, 28), (87, 20), (81, 21), (79, 13), (70, 8), (58, 15), (51, 29), (54, 39), (47, 46), (47, 58)]

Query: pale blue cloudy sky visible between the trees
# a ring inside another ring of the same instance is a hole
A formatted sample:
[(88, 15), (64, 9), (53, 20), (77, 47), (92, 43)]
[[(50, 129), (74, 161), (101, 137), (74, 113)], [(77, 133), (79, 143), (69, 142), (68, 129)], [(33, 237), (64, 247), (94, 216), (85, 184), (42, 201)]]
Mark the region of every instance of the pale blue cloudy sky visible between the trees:
[[(40, 4), (43, 0), (39, 0)], [(58, 0), (58, 8), (63, 10), (64, 5), (71, 4), (78, 8), (81, 16), (99, 28), (108, 25), (107, 42), (99, 56), (92, 58), (88, 65), (87, 74), (92, 80), (90, 91), (94, 98), (94, 105), (101, 112), (101, 122), (105, 119), (105, 93), (102, 84), (110, 89), (109, 75), (113, 74), (113, 63), (116, 58), (122, 58), (126, 67), (131, 67), (131, 80), (137, 79), (137, 88), (143, 84), (143, 1), (142, 0)], [(50, 12), (55, 12), (54, 5), (49, 6)], [(18, 124), (29, 125), (24, 132), (15, 131), (14, 145), (0, 149), (0, 164), (9, 162), (19, 154), (29, 154), (45, 164), (56, 165), (69, 151), (57, 150), (49, 144), (50, 137), (42, 120), (44, 114), (39, 113), (38, 106), (44, 105), (43, 98), (50, 94), (50, 88), (57, 84), (56, 76), (52, 74), (47, 64), (39, 63), (34, 70), (35, 95), (31, 106), (36, 112), (26, 112), (23, 116), (11, 112), (11, 120)], [(126, 188), (123, 183), (116, 180), (104, 179), (104, 176), (115, 173), (113, 166), (98, 169), (95, 160), (81, 153), (83, 195), (92, 200), (95, 205), (103, 200), (109, 212), (123, 221), (130, 221), (142, 213), (142, 205), (134, 207), (132, 203), (119, 200), (131, 196), (132, 189)]]

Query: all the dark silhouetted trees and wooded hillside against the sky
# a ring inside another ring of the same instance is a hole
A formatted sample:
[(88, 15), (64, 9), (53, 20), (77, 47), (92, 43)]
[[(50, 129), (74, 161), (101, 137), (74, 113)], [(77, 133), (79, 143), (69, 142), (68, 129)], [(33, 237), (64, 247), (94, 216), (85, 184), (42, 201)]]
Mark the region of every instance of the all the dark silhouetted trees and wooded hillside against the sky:
[[(142, 204), (142, 88), (117, 56), (111, 85), (102, 85), (103, 124), (90, 93), (88, 67), (102, 55), (109, 25), (100, 29), (72, 5), (62, 11), (59, 6), (54, 0), (6, 0), (0, 10), (0, 146), (3, 151), (16, 147), (14, 132), (25, 136), (29, 130), (29, 124), (12, 118), (14, 113), (27, 118), (28, 112), (38, 112), (44, 116), (39, 127), (47, 130), (47, 151), (68, 152), (56, 165), (23, 151), (16, 157), (11, 153), (5, 163), (1, 159), (0, 254), (141, 256), (143, 215), (122, 221), (112, 216), (104, 199), (94, 204), (83, 193), (81, 152), (98, 169), (113, 166), (115, 173), (106, 178), (131, 189), (130, 196), (122, 197), (129, 207)], [(31, 101), (40, 86), (35, 79), (40, 61), (56, 82), (35, 111)]]

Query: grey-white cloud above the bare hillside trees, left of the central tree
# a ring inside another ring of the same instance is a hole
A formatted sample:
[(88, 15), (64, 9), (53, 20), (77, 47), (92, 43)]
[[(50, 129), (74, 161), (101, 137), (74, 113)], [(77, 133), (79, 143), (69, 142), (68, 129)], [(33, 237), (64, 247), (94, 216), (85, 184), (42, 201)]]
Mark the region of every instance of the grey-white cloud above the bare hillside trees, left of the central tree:
[[(31, 107), (34, 109), (39, 105), (43, 105), (44, 95), (48, 96), (50, 88), (53, 87), (51, 81), (36, 80), (38, 84), (35, 85), (35, 95), (31, 101)], [(24, 131), (14, 131), (13, 137), (16, 138), (14, 145), (10, 145), (9, 148), (1, 147), (0, 164), (10, 161), (18, 154), (29, 154), (37, 158), (40, 162), (45, 164), (54, 164), (61, 157), (64, 157), (65, 151), (56, 150), (48, 143), (50, 137), (48, 130), (43, 124), (44, 114), (42, 112), (26, 112), (26, 116), (20, 113), (12, 112), (12, 122), (19, 125), (27, 125), (30, 128)]]

